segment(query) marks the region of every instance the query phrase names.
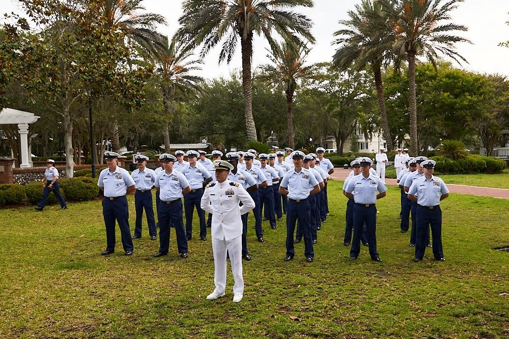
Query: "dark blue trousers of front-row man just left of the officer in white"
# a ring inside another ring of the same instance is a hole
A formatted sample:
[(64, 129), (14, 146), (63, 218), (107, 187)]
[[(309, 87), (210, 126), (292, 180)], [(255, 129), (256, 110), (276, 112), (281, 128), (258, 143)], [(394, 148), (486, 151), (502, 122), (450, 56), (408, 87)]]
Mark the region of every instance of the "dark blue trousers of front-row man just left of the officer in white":
[(157, 219), (159, 220), (159, 252), (168, 253), (169, 229), (170, 225), (175, 225), (179, 253), (187, 253), (186, 231), (182, 222), (182, 199), (174, 200), (169, 204), (166, 201), (160, 201)]

